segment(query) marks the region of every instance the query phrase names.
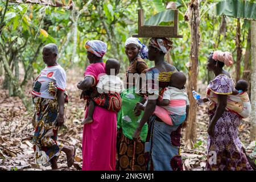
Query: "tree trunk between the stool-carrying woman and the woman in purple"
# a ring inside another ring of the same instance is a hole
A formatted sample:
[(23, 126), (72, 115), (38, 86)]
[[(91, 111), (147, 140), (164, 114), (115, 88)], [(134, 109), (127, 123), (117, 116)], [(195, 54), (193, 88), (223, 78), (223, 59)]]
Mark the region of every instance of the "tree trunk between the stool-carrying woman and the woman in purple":
[[(189, 58), (192, 63), (192, 67), (189, 67), (188, 72), (188, 99), (189, 99), (189, 113), (187, 127), (185, 131), (185, 141), (187, 144), (193, 144), (196, 142), (196, 100), (193, 98), (192, 90), (197, 89), (197, 75), (198, 75), (198, 53), (200, 46), (200, 32), (199, 32), (199, 23), (200, 23), (200, 13), (199, 13), (199, 0), (192, 0), (189, 3), (188, 10), (185, 14), (190, 19), (191, 27), (191, 51), (189, 53)], [(190, 146), (192, 147), (192, 146)]]

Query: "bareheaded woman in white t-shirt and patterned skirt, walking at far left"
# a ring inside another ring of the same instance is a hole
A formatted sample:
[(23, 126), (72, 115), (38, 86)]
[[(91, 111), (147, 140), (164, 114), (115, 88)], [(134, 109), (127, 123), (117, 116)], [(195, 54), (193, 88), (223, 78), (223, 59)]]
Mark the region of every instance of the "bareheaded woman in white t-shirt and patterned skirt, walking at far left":
[[(57, 131), (64, 123), (64, 91), (66, 73), (57, 63), (58, 48), (47, 44), (43, 48), (44, 68), (33, 83), (32, 100), (35, 106), (34, 144), (36, 163), (51, 163), (57, 169), (57, 156), (60, 151), (67, 155), (68, 167), (74, 163), (76, 148), (57, 142)], [(56, 92), (54, 89), (56, 88)]]

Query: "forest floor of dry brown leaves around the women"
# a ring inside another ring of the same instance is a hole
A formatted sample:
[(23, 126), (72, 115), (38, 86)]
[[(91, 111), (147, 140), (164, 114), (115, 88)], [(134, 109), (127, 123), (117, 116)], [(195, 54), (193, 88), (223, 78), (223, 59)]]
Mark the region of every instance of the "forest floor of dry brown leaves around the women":
[[(67, 167), (66, 156), (61, 152), (58, 160), (60, 170), (81, 170), (82, 167), (82, 129), (81, 119), (84, 116), (84, 101), (80, 100), (80, 91), (76, 88), (76, 83), (82, 79), (82, 71), (70, 69), (67, 71), (67, 91), (69, 103), (65, 109), (65, 126), (59, 131), (59, 141), (68, 146), (76, 146), (75, 164), (71, 168)], [(0, 77), (2, 85), (3, 77)], [(206, 85), (199, 83), (201, 90)], [(27, 85), (27, 90), (31, 90), (31, 83)], [(30, 92), (27, 92), (30, 96)], [(31, 101), (32, 102), (32, 101)], [(8, 90), (0, 89), (0, 170), (50, 170), (51, 166), (38, 165), (35, 163), (31, 144), (33, 128), (31, 124), (32, 113), (26, 111), (22, 101), (18, 97), (9, 97)], [(197, 106), (197, 142), (184, 142), (181, 139), (181, 156), (183, 158), (184, 170), (204, 170), (207, 152), (207, 126), (209, 117), (207, 105)], [(246, 147), (246, 151), (251, 154), (255, 147), (255, 142), (249, 140), (250, 122), (244, 119), (238, 128), (241, 142)]]

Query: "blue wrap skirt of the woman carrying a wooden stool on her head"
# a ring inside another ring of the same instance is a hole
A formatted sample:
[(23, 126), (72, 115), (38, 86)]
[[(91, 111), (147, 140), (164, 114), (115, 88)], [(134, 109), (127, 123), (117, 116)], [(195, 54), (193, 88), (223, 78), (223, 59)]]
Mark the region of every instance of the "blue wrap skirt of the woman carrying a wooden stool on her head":
[(156, 121), (156, 115), (151, 116), (145, 143), (146, 170), (183, 171), (180, 131), (181, 125), (170, 126)]

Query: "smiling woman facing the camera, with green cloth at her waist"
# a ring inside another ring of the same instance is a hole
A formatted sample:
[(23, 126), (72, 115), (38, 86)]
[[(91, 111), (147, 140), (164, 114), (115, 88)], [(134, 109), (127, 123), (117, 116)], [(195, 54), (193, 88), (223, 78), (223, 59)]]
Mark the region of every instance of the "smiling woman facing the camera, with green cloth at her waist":
[(142, 102), (143, 94), (141, 86), (135, 80), (139, 75), (146, 73), (147, 64), (143, 59), (147, 58), (147, 47), (137, 38), (128, 38), (125, 42), (125, 53), (129, 59), (129, 67), (126, 70), (126, 89), (121, 93), (122, 108), (117, 118), (117, 156), (116, 169), (144, 170), (144, 142), (147, 137), (147, 125), (143, 126), (141, 140), (133, 141), (133, 133), (141, 120), (141, 111), (134, 110), (137, 102)]

